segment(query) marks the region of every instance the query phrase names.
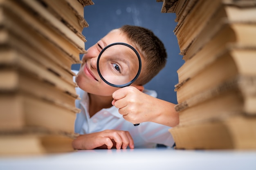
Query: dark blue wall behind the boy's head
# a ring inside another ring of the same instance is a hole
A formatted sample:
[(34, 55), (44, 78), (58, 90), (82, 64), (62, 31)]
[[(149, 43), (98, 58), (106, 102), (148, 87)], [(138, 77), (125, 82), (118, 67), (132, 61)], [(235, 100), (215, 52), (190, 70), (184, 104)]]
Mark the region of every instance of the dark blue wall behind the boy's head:
[[(145, 88), (157, 91), (158, 98), (177, 103), (174, 85), (178, 82), (177, 69), (184, 61), (179, 55), (177, 38), (173, 33), (176, 26), (175, 13), (161, 13), (163, 2), (156, 0), (93, 0), (94, 5), (85, 7), (85, 20), (89, 27), (83, 29), (85, 49), (95, 44), (110, 30), (130, 24), (143, 26), (155, 33), (164, 43), (168, 61), (166, 67)], [(73, 65), (72, 69), (79, 69)]]

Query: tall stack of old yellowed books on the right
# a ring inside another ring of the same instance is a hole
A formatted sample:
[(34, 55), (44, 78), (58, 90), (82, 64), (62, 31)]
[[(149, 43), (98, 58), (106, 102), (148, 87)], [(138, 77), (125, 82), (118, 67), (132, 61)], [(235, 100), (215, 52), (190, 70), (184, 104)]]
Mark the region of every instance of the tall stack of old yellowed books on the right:
[(256, 148), (256, 1), (164, 0), (184, 64), (175, 86), (181, 149)]

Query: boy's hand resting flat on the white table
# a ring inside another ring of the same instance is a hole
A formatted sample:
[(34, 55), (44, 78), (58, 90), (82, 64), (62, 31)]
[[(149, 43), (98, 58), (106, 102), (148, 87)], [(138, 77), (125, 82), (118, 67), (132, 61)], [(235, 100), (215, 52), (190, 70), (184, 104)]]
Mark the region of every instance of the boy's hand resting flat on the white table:
[(128, 146), (133, 149), (133, 139), (128, 131), (104, 130), (90, 134), (80, 135), (72, 142), (74, 149), (126, 149)]

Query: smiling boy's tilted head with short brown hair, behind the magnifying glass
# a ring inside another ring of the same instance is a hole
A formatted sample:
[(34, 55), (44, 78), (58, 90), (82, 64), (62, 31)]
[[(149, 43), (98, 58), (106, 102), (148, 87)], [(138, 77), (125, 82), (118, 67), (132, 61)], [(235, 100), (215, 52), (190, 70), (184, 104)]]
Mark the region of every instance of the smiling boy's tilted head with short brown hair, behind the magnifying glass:
[[(166, 64), (167, 55), (164, 45), (152, 31), (139, 26), (125, 25), (119, 29), (110, 31), (83, 55), (83, 63), (76, 76), (76, 83), (81, 89), (88, 93), (102, 96), (111, 96), (118, 89), (103, 82), (97, 72), (97, 58), (99, 53), (104, 47), (115, 42), (130, 44), (141, 56), (141, 73), (138, 79), (132, 84), (133, 86), (146, 84)], [(127, 51), (124, 51), (124, 53), (127, 53)]]

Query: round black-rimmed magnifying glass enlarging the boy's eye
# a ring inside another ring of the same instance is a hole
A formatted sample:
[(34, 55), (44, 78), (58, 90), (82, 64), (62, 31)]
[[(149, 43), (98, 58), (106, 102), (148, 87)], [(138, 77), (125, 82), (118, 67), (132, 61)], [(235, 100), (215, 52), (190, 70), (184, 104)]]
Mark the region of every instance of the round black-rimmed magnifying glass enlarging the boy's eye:
[(106, 84), (123, 88), (130, 86), (139, 77), (141, 58), (137, 50), (129, 44), (109, 44), (99, 53), (97, 70)]

